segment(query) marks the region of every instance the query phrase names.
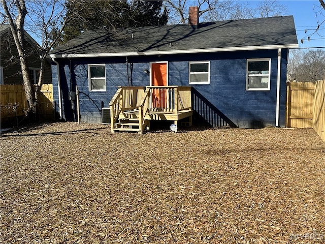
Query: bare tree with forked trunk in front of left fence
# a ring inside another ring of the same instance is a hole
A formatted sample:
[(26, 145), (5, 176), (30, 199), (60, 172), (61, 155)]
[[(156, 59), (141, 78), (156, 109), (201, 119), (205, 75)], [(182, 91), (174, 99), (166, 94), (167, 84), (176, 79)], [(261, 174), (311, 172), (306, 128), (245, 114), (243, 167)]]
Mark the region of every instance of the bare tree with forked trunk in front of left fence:
[[(62, 16), (66, 11), (64, 0), (1, 0), (1, 15), (9, 23), (15, 45), (18, 50), (23, 86), (27, 100), (26, 116), (36, 112), (39, 92), (43, 83), (45, 58), (57, 43), (60, 33), (68, 19)], [(41, 60), (40, 76), (34, 87), (29, 77), (28, 62), (25, 49), (26, 32), (38, 38), (41, 43), (38, 52)]]

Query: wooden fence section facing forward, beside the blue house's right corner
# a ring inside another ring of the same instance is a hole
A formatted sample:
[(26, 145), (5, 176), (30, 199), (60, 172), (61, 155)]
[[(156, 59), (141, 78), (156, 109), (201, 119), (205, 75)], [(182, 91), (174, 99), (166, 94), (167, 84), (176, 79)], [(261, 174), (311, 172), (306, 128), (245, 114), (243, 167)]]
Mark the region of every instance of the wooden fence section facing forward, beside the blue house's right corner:
[(315, 85), (315, 82), (287, 83), (287, 127), (313, 127)]

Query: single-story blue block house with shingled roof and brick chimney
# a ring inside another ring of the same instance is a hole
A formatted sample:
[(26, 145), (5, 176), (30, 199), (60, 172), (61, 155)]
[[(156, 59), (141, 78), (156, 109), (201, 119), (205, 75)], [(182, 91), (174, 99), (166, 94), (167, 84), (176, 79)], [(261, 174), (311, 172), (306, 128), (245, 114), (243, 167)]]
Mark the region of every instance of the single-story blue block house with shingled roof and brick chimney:
[[(60, 116), (103, 123), (104, 109), (116, 110), (118, 90), (128, 90), (124, 96), (134, 110), (139, 104), (131, 104), (142, 101), (146, 87), (170, 86), (148, 90), (151, 104), (159, 93), (155, 108), (184, 106), (191, 111), (187, 115), (212, 126), (283, 127), (288, 50), (298, 47), (293, 16), (199, 23), (198, 11), (190, 8), (188, 25), (87, 31), (55, 48), (50, 57)], [(190, 90), (190, 105), (171, 102), (172, 93), (185, 94), (179, 87)]]

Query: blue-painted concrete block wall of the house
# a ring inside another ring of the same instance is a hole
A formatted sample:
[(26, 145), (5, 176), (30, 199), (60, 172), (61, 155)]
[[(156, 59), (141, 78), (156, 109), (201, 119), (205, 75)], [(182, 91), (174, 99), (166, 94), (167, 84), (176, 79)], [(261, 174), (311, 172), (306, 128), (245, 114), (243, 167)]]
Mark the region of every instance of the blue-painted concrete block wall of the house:
[[(247, 58), (271, 58), (270, 90), (246, 90)], [(281, 54), (280, 126), (284, 126), (286, 99), (287, 50)], [(275, 126), (278, 50), (258, 50), (207, 54), (121, 58), (58, 59), (64, 118), (76, 120), (75, 104), (69, 90), (78, 85), (81, 120), (101, 123), (102, 106), (107, 107), (118, 86), (146, 86), (150, 77), (144, 73), (150, 62), (168, 61), (169, 85), (189, 85), (189, 61), (210, 61), (210, 84), (192, 85), (216, 108), (243, 128)], [(88, 64), (105, 64), (106, 92), (89, 92)], [(128, 67), (128, 72), (127, 72)], [(58, 102), (56, 66), (52, 68), (54, 99)]]

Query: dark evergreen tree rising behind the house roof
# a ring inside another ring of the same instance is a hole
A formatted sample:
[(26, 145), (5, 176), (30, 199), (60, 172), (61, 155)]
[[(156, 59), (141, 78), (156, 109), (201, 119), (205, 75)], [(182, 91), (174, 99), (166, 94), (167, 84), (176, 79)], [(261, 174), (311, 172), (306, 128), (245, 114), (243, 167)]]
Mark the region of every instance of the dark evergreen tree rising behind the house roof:
[(63, 42), (67, 42), (87, 29), (115, 29), (165, 25), (168, 10), (163, 1), (92, 1), (68, 0), (67, 18), (71, 19), (64, 28)]

